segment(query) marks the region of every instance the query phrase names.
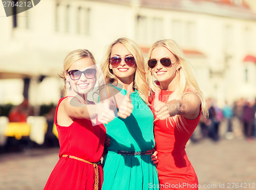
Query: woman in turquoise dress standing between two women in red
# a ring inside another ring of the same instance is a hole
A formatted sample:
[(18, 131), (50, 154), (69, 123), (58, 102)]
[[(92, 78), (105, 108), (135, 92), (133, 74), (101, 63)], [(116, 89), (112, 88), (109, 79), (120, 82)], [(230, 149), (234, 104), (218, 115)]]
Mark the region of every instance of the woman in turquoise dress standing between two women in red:
[(106, 54), (101, 66), (107, 86), (100, 100), (112, 99), (117, 109), (114, 120), (105, 124), (111, 143), (103, 160), (102, 190), (158, 189), (152, 161), (154, 115), (148, 107), (143, 54), (127, 38), (111, 43)]

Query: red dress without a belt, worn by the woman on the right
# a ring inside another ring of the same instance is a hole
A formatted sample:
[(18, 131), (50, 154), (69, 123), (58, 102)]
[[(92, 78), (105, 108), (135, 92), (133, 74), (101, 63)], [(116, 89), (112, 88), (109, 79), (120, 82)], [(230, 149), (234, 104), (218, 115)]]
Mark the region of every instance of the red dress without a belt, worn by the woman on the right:
[[(160, 101), (167, 103), (172, 92), (161, 90), (159, 94)], [(152, 102), (152, 105), (154, 105), (154, 102)], [(195, 120), (188, 120), (183, 117), (188, 132), (182, 127), (178, 129), (174, 122), (173, 127), (169, 118), (157, 120), (154, 123), (156, 150), (159, 160), (157, 172), (160, 189), (198, 189), (198, 178), (187, 158), (185, 146), (196, 129), (200, 116), (201, 112)]]

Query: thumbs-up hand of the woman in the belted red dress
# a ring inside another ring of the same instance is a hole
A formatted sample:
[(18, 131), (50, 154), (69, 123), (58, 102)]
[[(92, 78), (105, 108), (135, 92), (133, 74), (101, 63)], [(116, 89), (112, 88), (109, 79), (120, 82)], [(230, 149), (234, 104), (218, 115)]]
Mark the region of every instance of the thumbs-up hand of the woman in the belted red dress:
[(114, 119), (115, 113), (111, 107), (113, 107), (113, 101), (111, 99), (103, 100), (97, 105), (98, 121), (100, 123), (108, 124)]

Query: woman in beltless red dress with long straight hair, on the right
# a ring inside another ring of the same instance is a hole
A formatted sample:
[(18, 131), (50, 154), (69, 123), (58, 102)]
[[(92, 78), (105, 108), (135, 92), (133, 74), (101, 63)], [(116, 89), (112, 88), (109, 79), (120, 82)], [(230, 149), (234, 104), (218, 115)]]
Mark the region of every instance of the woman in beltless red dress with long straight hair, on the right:
[[(155, 95), (154, 133), (160, 189), (198, 189), (197, 175), (185, 145), (208, 109), (189, 63), (170, 39), (153, 44), (148, 55), (148, 82)], [(158, 82), (153, 81), (153, 77)]]

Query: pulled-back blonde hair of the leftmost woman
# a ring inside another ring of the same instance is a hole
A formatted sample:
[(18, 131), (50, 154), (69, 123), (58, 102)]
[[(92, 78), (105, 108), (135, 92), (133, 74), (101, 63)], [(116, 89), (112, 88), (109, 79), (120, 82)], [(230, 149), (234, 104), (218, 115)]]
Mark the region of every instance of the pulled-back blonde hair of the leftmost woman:
[[(92, 59), (93, 64), (96, 65), (95, 59), (89, 50), (82, 50), (82, 49), (74, 50), (66, 56), (66, 58), (64, 59), (64, 62), (63, 62), (63, 71), (60, 74), (58, 74), (59, 77), (61, 79), (63, 79), (63, 81), (65, 83), (65, 85), (63, 86), (63, 88), (61, 90), (62, 94), (64, 94), (67, 89), (65, 73), (67, 73), (67, 71), (69, 70), (69, 68), (75, 61), (82, 59), (82, 58), (87, 58), (87, 57)], [(97, 78), (97, 75), (98, 75), (98, 70), (96, 69), (96, 78)], [(71, 88), (70, 84), (69, 84), (68, 88)]]

